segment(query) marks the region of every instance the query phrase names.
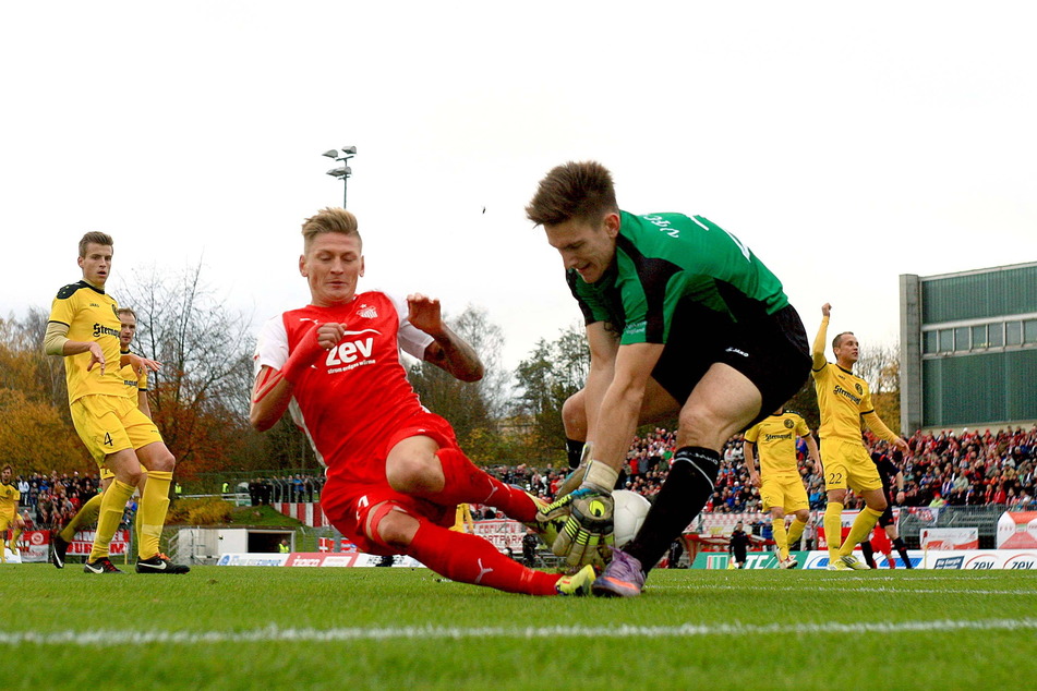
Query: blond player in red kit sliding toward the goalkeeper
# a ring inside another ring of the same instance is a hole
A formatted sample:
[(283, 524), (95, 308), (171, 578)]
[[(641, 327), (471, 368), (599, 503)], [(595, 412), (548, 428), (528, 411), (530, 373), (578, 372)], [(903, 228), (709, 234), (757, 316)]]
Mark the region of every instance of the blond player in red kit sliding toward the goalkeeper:
[(592, 567), (571, 577), (534, 571), (482, 537), (447, 530), (459, 504), (526, 523), (540, 508), (466, 458), (449, 423), (421, 405), (399, 351), (465, 381), (482, 377), (482, 363), (443, 322), (437, 300), (358, 291), (364, 257), (351, 213), (326, 208), (302, 235), (311, 303), (260, 335), (252, 425), (268, 429), (291, 410), (327, 468), (324, 512), (363, 551), (405, 554), (454, 581), (513, 593), (589, 593)]

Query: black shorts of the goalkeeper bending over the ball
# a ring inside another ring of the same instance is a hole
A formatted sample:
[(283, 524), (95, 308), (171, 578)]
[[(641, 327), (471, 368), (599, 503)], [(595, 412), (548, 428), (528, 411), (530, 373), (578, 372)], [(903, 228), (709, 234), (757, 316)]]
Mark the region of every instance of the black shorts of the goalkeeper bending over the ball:
[(759, 313), (734, 323), (687, 302), (674, 314), (670, 338), (652, 378), (684, 405), (713, 363), (731, 365), (760, 390), (763, 402), (746, 429), (785, 404), (810, 374), (810, 346), (796, 310)]

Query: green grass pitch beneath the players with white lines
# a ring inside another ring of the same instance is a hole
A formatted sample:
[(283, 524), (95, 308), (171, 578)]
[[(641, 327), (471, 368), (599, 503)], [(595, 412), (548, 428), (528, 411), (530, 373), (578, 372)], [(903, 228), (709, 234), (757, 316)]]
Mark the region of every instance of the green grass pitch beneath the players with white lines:
[(11, 565), (0, 594), (3, 688), (1037, 684), (1028, 571), (656, 571), (617, 601), (508, 595), (425, 569)]

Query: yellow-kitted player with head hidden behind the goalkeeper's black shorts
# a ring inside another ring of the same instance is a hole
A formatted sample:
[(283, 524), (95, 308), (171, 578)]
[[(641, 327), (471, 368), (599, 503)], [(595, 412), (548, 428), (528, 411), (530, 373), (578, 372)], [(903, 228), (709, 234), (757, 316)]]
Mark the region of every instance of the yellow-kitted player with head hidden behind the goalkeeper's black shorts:
[[(799, 541), (807, 521), (810, 520), (810, 501), (807, 499), (807, 489), (799, 476), (799, 461), (796, 459), (797, 436), (806, 441), (807, 457), (815, 468), (820, 470), (821, 456), (810, 427), (796, 413), (785, 412), (784, 407), (750, 427), (746, 432), (744, 444), (749, 482), (760, 488), (763, 510), (771, 514), (774, 544), (777, 545), (777, 563), (783, 569), (795, 569), (799, 566), (796, 558), (789, 556), (788, 545)], [(759, 472), (756, 469), (757, 456), (760, 458)], [(786, 512), (795, 516), (787, 532)]]

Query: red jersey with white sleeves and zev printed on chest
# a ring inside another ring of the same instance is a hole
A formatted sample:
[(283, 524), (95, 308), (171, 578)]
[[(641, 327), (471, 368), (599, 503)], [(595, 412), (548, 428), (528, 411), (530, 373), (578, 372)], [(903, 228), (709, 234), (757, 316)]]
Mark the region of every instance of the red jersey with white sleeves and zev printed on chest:
[(432, 337), (407, 320), (406, 301), (370, 291), (348, 305), (308, 305), (267, 322), (253, 356), (256, 373), (264, 365), (280, 369), (315, 324), (329, 323), (345, 326), (346, 335), (296, 384), (292, 419), (329, 478), (384, 482), (386, 440), (424, 410), (399, 351), (422, 359)]

